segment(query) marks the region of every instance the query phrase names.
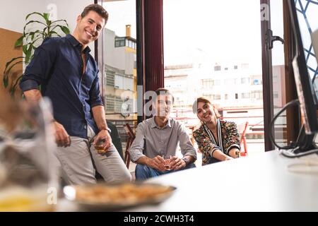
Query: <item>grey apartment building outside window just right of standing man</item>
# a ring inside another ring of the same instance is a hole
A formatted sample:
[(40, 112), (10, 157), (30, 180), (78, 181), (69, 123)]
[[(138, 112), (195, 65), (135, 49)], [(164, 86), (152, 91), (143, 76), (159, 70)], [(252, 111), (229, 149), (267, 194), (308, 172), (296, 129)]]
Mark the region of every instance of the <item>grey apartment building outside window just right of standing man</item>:
[(116, 124), (136, 121), (136, 40), (130, 37), (130, 25), (126, 25), (125, 37), (118, 37), (105, 28), (104, 52), (103, 91), (107, 120)]

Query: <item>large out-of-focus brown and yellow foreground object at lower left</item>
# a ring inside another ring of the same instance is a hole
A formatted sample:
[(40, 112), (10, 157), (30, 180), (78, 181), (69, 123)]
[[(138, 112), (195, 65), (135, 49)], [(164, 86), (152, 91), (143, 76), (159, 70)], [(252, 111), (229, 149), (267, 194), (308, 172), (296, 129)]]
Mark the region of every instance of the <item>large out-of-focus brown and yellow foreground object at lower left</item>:
[(5, 93), (0, 102), (0, 211), (54, 210), (47, 193), (59, 191), (51, 104), (28, 105)]

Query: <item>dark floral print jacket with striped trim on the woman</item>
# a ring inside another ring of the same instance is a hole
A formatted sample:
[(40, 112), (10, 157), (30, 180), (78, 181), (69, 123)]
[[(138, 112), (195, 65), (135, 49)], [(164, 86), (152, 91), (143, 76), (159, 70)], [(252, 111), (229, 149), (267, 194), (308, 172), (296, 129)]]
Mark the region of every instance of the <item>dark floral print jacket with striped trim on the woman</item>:
[(222, 150), (225, 155), (228, 155), (228, 152), (232, 148), (240, 149), (240, 133), (237, 131), (235, 122), (218, 119), (218, 128), (218, 131), (221, 133), (219, 134), (218, 132), (218, 137), (220, 138), (218, 140), (222, 141), (222, 148), (211, 139), (211, 136), (206, 131), (207, 127), (204, 125), (193, 132), (194, 139), (202, 153), (202, 165), (219, 162), (219, 160), (212, 157), (213, 151), (216, 149)]

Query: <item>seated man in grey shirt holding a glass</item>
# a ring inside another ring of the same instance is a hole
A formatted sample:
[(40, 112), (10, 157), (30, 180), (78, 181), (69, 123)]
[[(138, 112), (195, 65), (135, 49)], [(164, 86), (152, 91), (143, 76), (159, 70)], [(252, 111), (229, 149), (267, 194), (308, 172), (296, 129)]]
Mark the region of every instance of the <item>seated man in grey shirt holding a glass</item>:
[[(137, 163), (136, 179), (148, 179), (195, 167), (193, 162), (196, 160), (196, 150), (187, 131), (179, 121), (169, 118), (174, 97), (164, 88), (155, 93), (152, 105), (155, 116), (137, 126), (136, 138), (129, 150), (131, 161)], [(175, 156), (178, 141), (182, 158)], [(171, 171), (165, 169), (163, 155), (172, 155)]]

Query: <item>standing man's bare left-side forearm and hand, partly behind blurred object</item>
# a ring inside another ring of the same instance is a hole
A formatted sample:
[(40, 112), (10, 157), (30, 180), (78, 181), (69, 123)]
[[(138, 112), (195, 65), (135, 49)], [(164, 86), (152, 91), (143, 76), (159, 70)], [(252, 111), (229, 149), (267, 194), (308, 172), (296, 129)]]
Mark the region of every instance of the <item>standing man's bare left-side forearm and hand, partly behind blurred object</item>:
[[(23, 92), (25, 99), (27, 100), (30, 105), (36, 105), (42, 99), (42, 95), (40, 90), (27, 90)], [(54, 124), (55, 129), (55, 142), (59, 147), (68, 147), (71, 145), (71, 139), (69, 138), (69, 134), (64, 129), (64, 126), (59, 124), (57, 121), (54, 120), (53, 116), (51, 121)]]

